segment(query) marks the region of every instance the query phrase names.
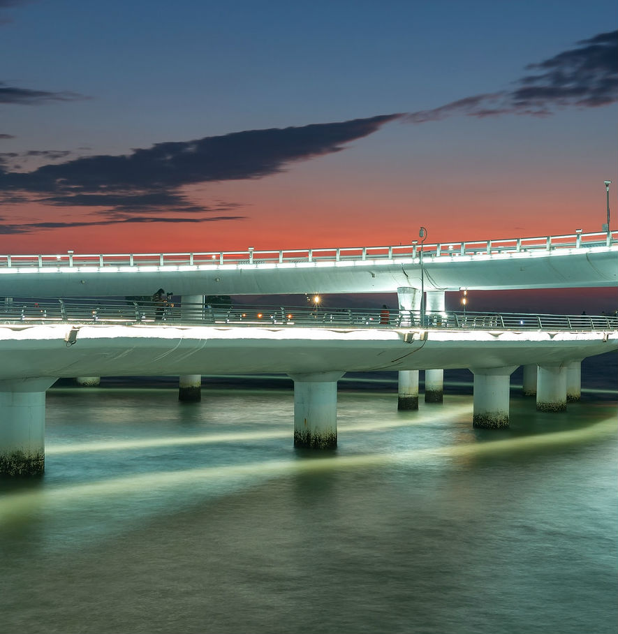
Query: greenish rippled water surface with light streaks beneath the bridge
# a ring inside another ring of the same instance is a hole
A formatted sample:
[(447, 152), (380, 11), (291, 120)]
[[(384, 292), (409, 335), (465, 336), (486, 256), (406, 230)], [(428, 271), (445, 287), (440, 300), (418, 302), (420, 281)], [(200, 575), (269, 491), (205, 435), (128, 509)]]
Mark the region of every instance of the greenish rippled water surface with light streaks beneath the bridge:
[(251, 385), (52, 388), (45, 476), (0, 481), (0, 632), (617, 632), (615, 381), (513, 390), (497, 432), (469, 386), (342, 382), (332, 452)]

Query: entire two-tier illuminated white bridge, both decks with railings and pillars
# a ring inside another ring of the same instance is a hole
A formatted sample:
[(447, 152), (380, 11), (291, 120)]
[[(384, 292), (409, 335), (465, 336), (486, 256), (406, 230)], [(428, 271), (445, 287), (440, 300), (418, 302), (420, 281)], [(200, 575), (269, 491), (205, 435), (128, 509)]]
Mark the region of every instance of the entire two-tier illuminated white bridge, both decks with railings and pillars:
[[(580, 362), (617, 349), (608, 316), (447, 312), (448, 290), (618, 286), (618, 232), (399, 246), (0, 256), (0, 473), (44, 468), (45, 390), (60, 377), (277, 372), (294, 380), (298, 446), (337, 443), (337, 380), (397, 370), (400, 409), (440, 402), (445, 368), (474, 375), (473, 425), (508, 426), (510, 374), (541, 411), (579, 398)], [(175, 307), (108, 297), (174, 288)], [(397, 293), (370, 309), (212, 307), (204, 295)], [(28, 300), (27, 296), (38, 297)], [(57, 299), (45, 299), (56, 297)], [(426, 298), (425, 298), (426, 297)], [(68, 299), (73, 298), (73, 299)], [(103, 300), (103, 302), (102, 302)], [(159, 312), (161, 311), (161, 312)], [(196, 399), (198, 399), (198, 397)], [(193, 396), (191, 396), (193, 398)]]

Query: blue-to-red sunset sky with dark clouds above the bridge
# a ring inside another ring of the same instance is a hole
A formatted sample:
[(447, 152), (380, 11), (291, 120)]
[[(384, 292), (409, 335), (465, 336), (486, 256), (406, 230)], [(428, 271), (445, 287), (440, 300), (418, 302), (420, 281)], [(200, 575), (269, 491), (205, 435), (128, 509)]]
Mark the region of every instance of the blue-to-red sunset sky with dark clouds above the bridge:
[(0, 253), (618, 229), (615, 0), (0, 0)]

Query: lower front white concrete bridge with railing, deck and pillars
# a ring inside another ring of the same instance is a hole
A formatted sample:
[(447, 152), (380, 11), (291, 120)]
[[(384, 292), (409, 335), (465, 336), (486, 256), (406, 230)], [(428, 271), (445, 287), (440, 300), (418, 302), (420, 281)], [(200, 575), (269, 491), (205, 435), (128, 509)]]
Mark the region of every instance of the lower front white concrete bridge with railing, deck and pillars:
[(537, 408), (562, 411), (569, 390), (579, 390), (581, 360), (618, 349), (618, 318), (607, 316), (437, 313), (425, 327), (411, 311), (374, 319), (346, 310), (337, 325), (302, 311), (213, 314), (189, 304), (165, 322), (122, 302), (93, 310), (33, 301), (5, 311), (0, 473), (43, 471), (45, 390), (61, 377), (285, 373), (294, 381), (295, 445), (323, 448), (337, 444), (337, 381), (346, 371), (397, 370), (400, 393), (404, 376), (406, 397), (418, 401), (419, 369), (469, 368), (473, 425), (495, 428), (508, 426), (518, 366), (535, 369)]

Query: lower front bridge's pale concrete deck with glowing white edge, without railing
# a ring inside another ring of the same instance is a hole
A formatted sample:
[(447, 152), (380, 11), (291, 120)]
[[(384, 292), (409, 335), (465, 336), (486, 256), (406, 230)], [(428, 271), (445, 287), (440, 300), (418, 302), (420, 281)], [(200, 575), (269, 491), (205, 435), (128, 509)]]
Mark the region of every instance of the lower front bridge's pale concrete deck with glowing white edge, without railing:
[(0, 380), (497, 368), (564, 364), (618, 349), (617, 331), (82, 325), (69, 345), (71, 328), (0, 327), (0, 353), (8, 360)]

